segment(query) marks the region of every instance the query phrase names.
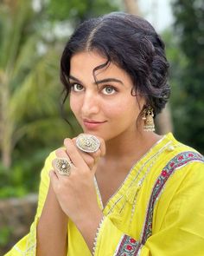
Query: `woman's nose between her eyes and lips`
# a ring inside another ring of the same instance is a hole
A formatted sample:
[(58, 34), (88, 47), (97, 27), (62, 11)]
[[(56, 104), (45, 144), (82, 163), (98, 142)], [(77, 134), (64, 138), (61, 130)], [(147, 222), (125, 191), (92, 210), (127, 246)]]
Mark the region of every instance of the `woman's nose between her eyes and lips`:
[(99, 98), (97, 93), (88, 90), (86, 91), (83, 98), (81, 112), (84, 116), (99, 113)]

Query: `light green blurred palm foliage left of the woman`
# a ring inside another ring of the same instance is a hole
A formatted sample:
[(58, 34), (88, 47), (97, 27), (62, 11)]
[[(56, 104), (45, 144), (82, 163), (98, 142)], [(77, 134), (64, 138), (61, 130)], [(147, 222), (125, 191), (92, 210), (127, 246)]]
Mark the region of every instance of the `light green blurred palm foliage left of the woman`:
[[(57, 10), (57, 11), (56, 11)], [(0, 198), (37, 191), (48, 154), (80, 127), (65, 104), (60, 58), (74, 27), (117, 1), (0, 2)]]

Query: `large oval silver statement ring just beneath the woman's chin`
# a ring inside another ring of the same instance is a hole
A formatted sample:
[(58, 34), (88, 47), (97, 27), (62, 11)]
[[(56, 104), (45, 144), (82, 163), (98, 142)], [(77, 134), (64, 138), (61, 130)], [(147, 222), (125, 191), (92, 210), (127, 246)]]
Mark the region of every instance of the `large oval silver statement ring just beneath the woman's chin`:
[(76, 146), (86, 153), (93, 153), (99, 149), (100, 141), (94, 135), (79, 135), (76, 139)]

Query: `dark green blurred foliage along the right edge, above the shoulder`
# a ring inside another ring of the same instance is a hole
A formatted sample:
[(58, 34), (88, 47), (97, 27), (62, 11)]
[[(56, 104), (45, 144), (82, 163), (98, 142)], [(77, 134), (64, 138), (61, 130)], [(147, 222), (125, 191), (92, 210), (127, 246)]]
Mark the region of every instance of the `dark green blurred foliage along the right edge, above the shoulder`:
[(177, 38), (172, 70), (175, 135), (204, 154), (204, 2), (176, 0), (173, 10)]

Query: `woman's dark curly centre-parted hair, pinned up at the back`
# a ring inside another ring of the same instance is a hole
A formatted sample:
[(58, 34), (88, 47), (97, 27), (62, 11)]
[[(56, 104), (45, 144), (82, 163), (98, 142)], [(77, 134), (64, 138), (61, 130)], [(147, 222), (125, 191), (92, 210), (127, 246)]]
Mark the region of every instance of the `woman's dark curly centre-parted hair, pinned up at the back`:
[(63, 103), (71, 89), (68, 79), (70, 59), (78, 52), (89, 50), (96, 50), (107, 59), (93, 69), (93, 75), (110, 62), (117, 64), (131, 76), (132, 93), (143, 95), (145, 107), (153, 108), (155, 115), (161, 112), (170, 95), (169, 63), (164, 43), (150, 23), (123, 12), (112, 12), (81, 23), (61, 56), (61, 82), (66, 92)]

